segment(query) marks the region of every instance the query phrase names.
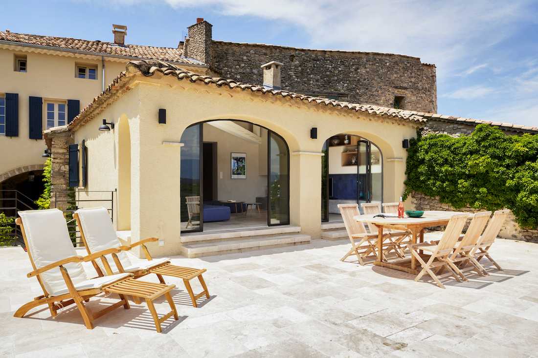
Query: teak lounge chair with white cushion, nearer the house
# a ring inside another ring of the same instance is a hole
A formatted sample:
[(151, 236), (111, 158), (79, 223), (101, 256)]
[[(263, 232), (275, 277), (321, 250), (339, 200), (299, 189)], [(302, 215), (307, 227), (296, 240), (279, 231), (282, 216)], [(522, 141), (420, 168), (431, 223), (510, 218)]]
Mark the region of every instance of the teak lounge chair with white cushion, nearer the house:
[[(102, 262), (94, 262), (94, 267), (97, 266), (101, 270), (105, 269), (105, 272), (110, 275), (112, 273), (132, 273), (135, 278), (142, 277), (148, 274), (155, 274), (159, 278), (159, 281), (165, 284), (165, 280), (162, 276), (173, 276), (178, 277), (183, 280), (185, 283), (185, 288), (189, 293), (190, 300), (192, 300), (193, 306), (197, 307), (198, 304), (196, 300), (203, 295), (206, 295), (209, 298), (209, 291), (206, 286), (202, 274), (206, 272), (206, 269), (195, 269), (190, 267), (181, 267), (175, 266), (170, 263), (170, 259), (158, 259), (152, 260), (150, 252), (148, 251), (146, 242), (157, 241), (157, 238), (149, 238), (135, 242), (129, 246), (122, 246), (122, 243), (119, 241), (114, 226), (112, 226), (112, 221), (108, 214), (107, 209), (104, 207), (93, 207), (89, 209), (79, 209), (74, 214), (73, 217), (76, 219), (77, 224), (79, 225), (80, 234), (84, 246), (88, 254), (92, 252), (98, 252), (100, 250), (108, 248), (119, 248), (122, 252), (118, 253), (116, 256), (112, 257), (113, 262), (110, 263), (110, 268), (107, 269), (103, 267)], [(132, 264), (131, 260), (124, 250), (130, 250), (133, 247), (141, 246), (147, 261), (143, 264)], [(109, 260), (110, 261), (110, 260)], [(193, 293), (192, 287), (190, 287), (189, 281), (197, 277), (202, 285), (203, 291)]]

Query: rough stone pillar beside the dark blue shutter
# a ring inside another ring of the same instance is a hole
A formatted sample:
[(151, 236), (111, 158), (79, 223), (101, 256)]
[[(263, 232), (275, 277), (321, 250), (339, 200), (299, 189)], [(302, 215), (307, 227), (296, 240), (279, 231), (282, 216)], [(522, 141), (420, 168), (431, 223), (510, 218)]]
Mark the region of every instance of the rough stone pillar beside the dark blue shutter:
[(69, 206), (66, 202), (69, 189), (69, 144), (73, 144), (73, 138), (67, 128), (47, 131), (45, 136), (52, 160), (51, 207), (65, 210)]

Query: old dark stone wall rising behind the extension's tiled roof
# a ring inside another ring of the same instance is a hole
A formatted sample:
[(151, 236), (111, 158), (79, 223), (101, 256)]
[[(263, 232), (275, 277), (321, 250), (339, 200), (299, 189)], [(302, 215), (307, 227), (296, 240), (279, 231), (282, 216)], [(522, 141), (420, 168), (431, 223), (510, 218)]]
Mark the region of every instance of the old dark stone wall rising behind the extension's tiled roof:
[[(261, 85), (260, 66), (274, 60), (284, 63), (283, 90), (389, 108), (394, 96), (403, 96), (402, 109), (437, 111), (435, 66), (419, 58), (222, 41), (212, 41), (210, 47), (211, 70), (225, 78)], [(190, 38), (189, 56), (194, 57), (193, 51)]]

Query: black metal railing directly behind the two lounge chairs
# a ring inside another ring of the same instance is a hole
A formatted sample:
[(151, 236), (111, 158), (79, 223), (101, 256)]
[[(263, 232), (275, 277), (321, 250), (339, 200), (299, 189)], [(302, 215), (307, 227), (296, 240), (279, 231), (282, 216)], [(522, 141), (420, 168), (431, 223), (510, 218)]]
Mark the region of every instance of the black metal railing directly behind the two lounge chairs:
[[(75, 246), (81, 246), (80, 231), (73, 219), (73, 213), (82, 207), (103, 206), (108, 210), (110, 218), (114, 221), (114, 194), (116, 190), (89, 190), (89, 191), (54, 191), (54, 201), (51, 207), (65, 207), (61, 209), (67, 220), (69, 236)], [(59, 203), (62, 203), (59, 205)]]

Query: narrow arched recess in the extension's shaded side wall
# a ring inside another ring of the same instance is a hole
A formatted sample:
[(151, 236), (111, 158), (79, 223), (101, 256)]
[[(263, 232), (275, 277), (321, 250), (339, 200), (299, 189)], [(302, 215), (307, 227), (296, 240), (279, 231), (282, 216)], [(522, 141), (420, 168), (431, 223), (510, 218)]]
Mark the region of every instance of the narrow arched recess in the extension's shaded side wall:
[(131, 230), (131, 131), (124, 115), (118, 123), (117, 230)]

